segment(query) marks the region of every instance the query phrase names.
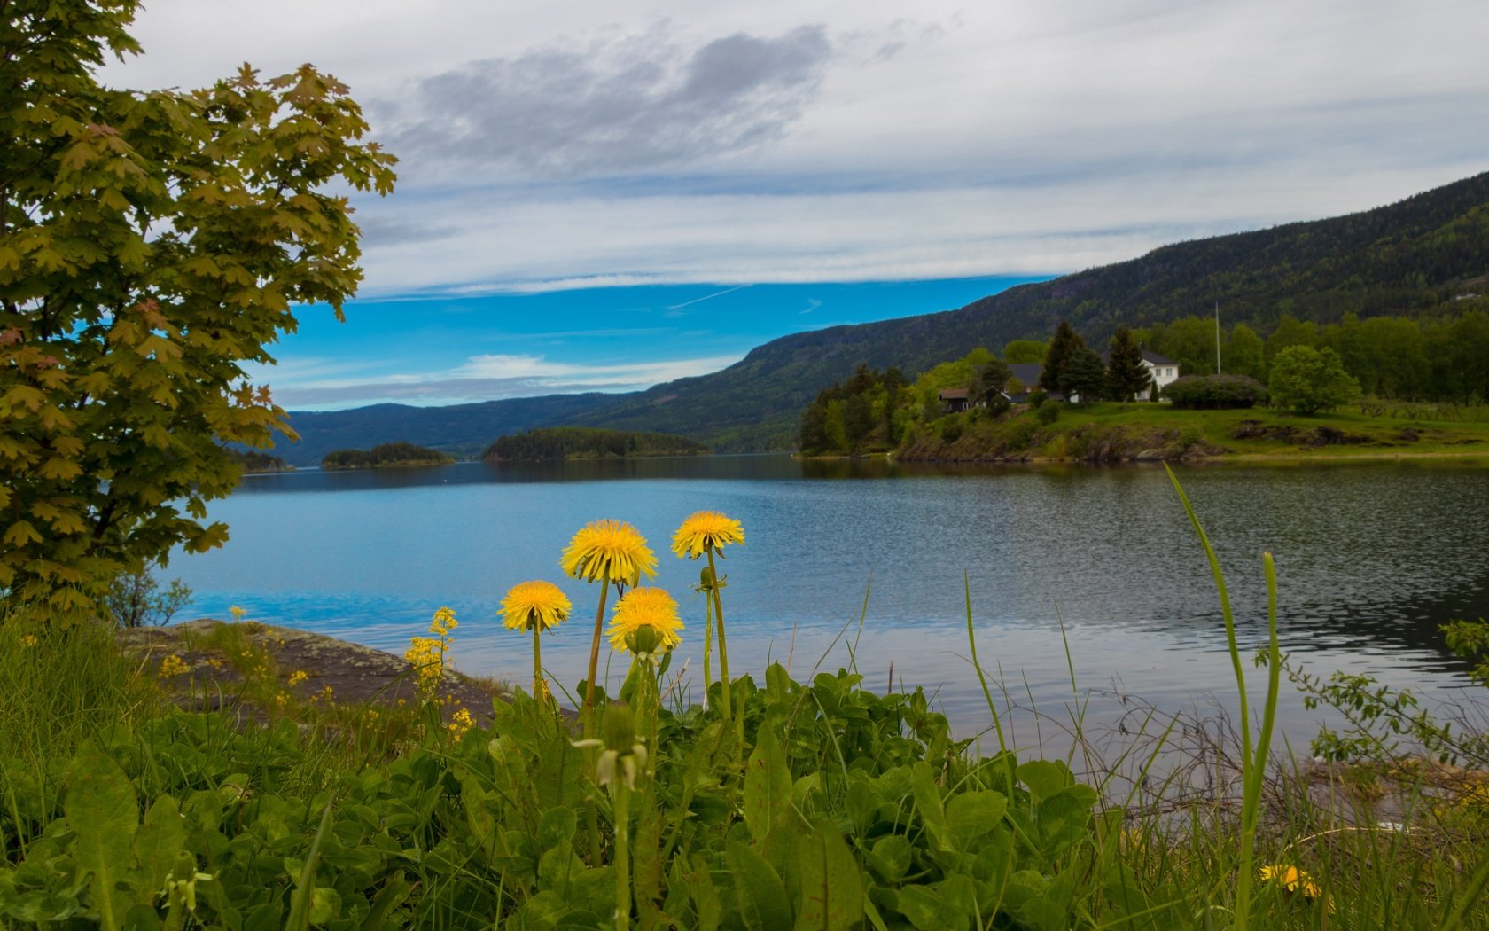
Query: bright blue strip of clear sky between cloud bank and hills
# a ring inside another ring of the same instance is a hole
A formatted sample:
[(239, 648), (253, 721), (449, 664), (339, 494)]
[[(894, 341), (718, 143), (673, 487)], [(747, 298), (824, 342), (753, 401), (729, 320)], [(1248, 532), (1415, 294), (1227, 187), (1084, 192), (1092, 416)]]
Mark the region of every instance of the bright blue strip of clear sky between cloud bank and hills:
[(642, 285), (322, 307), (253, 372), (295, 410), (640, 390), (718, 371), (777, 337), (953, 310), (1033, 277)]

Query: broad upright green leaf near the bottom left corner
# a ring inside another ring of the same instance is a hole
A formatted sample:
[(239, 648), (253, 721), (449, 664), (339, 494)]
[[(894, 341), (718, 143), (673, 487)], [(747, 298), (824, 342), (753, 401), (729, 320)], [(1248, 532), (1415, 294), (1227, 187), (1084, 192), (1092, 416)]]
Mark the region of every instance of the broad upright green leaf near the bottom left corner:
[(140, 827), (134, 787), (112, 757), (88, 742), (68, 767), (63, 810), (77, 834), (73, 859), (79, 870), (92, 873), (98, 924), (119, 931), (131, 900), (128, 886), (119, 886), (134, 859), (131, 846)]

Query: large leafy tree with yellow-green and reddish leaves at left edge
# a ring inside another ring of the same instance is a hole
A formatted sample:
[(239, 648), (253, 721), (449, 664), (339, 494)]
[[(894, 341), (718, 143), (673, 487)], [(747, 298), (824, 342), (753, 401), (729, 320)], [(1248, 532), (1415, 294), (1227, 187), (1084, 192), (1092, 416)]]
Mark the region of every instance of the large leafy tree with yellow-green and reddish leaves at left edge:
[(362, 277), (331, 188), (393, 186), (310, 66), (192, 92), (106, 88), (137, 0), (15, 0), (0, 25), (0, 597), (61, 618), (109, 579), (220, 545), (225, 442), (289, 435), (246, 363)]

